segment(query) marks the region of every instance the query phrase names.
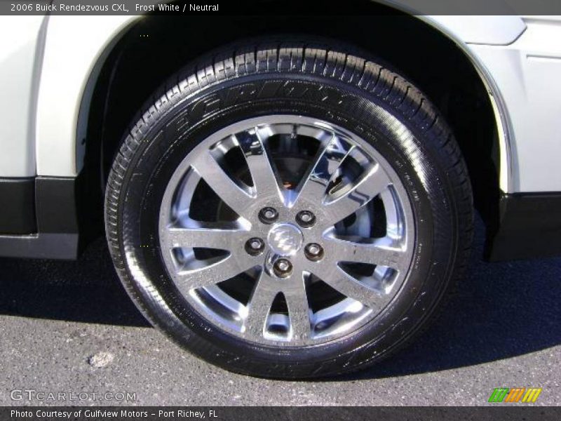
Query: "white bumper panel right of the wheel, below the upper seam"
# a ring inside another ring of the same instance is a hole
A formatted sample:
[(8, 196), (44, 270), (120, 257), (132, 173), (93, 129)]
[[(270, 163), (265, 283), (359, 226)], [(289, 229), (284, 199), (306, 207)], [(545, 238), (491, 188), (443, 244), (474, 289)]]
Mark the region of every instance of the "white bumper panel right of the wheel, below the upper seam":
[(503, 96), (512, 126), (511, 191), (561, 189), (561, 19), (532, 18), (513, 44), (471, 45)]

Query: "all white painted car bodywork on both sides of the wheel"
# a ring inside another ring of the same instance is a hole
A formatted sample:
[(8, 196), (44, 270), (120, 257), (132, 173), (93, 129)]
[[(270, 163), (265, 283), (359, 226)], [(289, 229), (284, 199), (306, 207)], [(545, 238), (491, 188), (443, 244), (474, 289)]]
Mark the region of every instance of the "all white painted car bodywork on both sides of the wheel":
[[(74, 177), (81, 170), (85, 128), (77, 127), (86, 83), (96, 63), (138, 16), (51, 16), (41, 46), (41, 19), (17, 30), (25, 44), (0, 46), (4, 80), (0, 115), (0, 177), (46, 175)], [(41, 18), (41, 19), (39, 19)], [(503, 192), (561, 190), (561, 25), (559, 20), (518, 16), (422, 16), (466, 51), (496, 109), (501, 135)], [(3, 18), (6, 19), (6, 18)], [(10, 21), (14, 17), (9, 18)], [(6, 20), (8, 22), (8, 20)], [(0, 22), (1, 23), (1, 22)], [(0, 31), (10, 32), (10, 25)], [(8, 29), (6, 29), (8, 28)], [(14, 29), (15, 30), (15, 29)], [(25, 60), (16, 60), (16, 57)], [(35, 62), (33, 61), (35, 60)], [(41, 60), (36, 62), (36, 60)], [(25, 71), (22, 72), (22, 66)], [(39, 91), (33, 69), (41, 67)], [(22, 93), (25, 95), (22, 97)], [(17, 94), (17, 95), (16, 95)], [(18, 99), (19, 98), (19, 99)], [(36, 106), (34, 105), (36, 100)], [(18, 101), (17, 109), (13, 109)], [(6, 126), (10, 126), (6, 128)]]

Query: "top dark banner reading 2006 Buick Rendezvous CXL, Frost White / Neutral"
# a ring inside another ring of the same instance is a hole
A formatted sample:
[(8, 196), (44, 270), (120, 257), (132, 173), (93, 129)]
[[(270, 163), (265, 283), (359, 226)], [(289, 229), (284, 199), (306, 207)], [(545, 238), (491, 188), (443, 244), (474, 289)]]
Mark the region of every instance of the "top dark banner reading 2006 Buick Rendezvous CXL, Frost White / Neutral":
[(561, 15), (560, 0), (0, 0), (0, 15)]

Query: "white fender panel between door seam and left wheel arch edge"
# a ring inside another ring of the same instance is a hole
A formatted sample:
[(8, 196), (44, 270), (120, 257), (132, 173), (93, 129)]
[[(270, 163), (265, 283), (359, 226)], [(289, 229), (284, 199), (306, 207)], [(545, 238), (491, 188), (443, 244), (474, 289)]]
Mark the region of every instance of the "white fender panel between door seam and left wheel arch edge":
[(76, 145), (86, 128), (77, 125), (83, 95), (88, 95), (86, 83), (97, 60), (109, 50), (107, 46), (137, 18), (50, 18), (36, 115), (37, 175), (72, 177), (79, 173), (84, 145)]

